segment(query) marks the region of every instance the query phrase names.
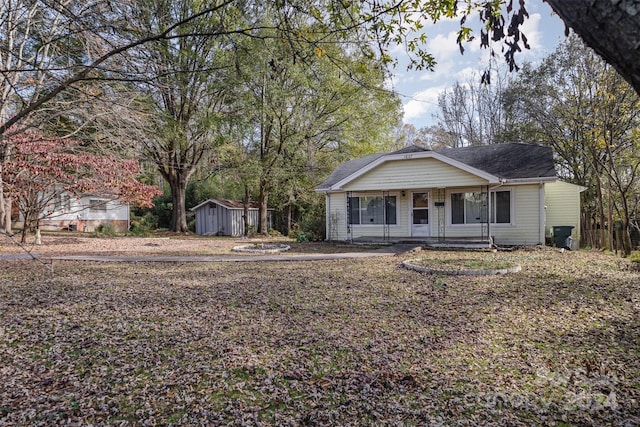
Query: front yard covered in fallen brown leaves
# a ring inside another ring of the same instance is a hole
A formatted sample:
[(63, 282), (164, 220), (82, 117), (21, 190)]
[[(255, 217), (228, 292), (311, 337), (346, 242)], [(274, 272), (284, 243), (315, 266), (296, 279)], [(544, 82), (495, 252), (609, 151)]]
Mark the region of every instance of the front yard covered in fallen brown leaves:
[(498, 256), (522, 272), (3, 261), (0, 425), (640, 424), (640, 274)]

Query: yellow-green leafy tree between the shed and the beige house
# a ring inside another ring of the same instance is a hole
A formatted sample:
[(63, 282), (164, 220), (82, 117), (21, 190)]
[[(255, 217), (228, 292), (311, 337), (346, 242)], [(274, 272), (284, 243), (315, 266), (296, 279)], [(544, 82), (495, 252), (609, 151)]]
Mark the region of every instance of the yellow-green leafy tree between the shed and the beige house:
[(236, 98), (247, 123), (243, 144), (256, 159), (246, 166), (256, 171), (260, 233), (268, 231), (267, 203), (274, 188), (289, 189), (279, 191), (278, 204), (291, 218), (299, 195), (313, 188), (301, 183), (333, 166), (321, 161), (323, 153), (379, 149), (387, 140), (384, 132), (393, 135), (399, 102), (383, 89), (383, 67), (344, 46), (343, 40), (325, 39), (322, 48), (302, 55), (289, 50), (285, 34), (275, 32), (237, 49)]

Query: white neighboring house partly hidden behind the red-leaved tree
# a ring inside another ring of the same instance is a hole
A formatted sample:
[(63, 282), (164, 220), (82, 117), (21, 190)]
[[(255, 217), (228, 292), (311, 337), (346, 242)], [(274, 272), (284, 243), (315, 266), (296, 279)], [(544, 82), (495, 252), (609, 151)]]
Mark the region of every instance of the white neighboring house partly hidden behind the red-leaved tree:
[(110, 225), (118, 233), (129, 230), (129, 204), (96, 195), (56, 194), (40, 219), (41, 229), (92, 232)]

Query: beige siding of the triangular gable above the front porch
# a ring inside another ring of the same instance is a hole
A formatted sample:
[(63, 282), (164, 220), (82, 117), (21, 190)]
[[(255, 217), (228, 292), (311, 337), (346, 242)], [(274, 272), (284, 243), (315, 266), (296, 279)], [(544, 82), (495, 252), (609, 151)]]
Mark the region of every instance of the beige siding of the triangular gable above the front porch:
[(381, 164), (356, 178), (347, 191), (423, 189), (486, 185), (487, 181), (437, 159), (396, 160)]

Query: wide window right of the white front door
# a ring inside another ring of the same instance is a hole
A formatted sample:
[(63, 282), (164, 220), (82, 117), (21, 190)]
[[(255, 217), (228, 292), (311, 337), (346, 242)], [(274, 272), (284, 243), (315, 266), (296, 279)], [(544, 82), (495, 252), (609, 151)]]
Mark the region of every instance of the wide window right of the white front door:
[[(491, 223), (511, 224), (511, 190), (491, 192)], [(479, 191), (451, 193), (451, 224), (480, 224), (487, 222), (487, 193)]]

